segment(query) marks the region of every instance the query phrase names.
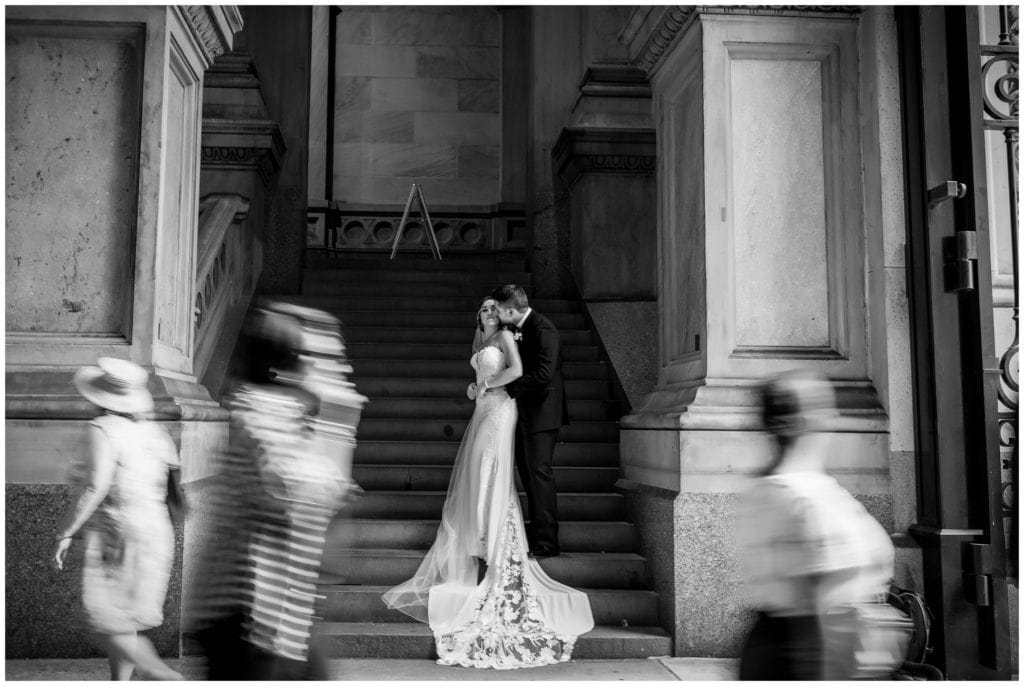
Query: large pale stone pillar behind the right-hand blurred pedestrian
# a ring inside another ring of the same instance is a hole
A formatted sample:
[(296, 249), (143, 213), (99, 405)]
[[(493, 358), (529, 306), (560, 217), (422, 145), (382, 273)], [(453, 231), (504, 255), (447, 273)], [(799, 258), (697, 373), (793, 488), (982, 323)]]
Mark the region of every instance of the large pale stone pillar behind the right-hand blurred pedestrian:
[(660, 370), (622, 421), (622, 460), (677, 655), (735, 655), (745, 633), (733, 508), (768, 456), (764, 376), (835, 380), (828, 469), (893, 526), (867, 346), (858, 23), (843, 8), (643, 7), (624, 32), (654, 93)]

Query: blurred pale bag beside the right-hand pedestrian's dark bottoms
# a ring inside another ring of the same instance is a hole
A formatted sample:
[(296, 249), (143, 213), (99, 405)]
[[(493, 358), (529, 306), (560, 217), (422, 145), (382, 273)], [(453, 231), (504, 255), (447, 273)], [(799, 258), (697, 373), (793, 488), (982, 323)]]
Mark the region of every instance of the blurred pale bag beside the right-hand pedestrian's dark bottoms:
[(913, 621), (880, 598), (824, 613), (825, 679), (884, 679), (906, 659)]

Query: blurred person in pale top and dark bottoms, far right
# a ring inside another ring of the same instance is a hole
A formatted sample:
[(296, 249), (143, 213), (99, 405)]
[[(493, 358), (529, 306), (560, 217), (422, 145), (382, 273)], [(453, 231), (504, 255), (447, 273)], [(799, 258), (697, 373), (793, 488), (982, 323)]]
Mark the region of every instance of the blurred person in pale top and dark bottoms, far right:
[(825, 473), (824, 431), (836, 414), (831, 384), (809, 372), (791, 372), (768, 381), (762, 392), (774, 453), (737, 513), (745, 590), (759, 610), (739, 678), (824, 679), (824, 613), (884, 593), (893, 573), (893, 545)]

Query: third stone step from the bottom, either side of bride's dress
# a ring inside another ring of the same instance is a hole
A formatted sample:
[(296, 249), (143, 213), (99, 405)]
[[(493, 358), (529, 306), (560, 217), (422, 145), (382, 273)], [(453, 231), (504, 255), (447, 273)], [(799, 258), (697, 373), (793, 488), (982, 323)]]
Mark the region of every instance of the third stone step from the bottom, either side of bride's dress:
[[(328, 548), (324, 584), (395, 586), (412, 577), (425, 550)], [(574, 589), (640, 589), (646, 587), (646, 560), (634, 553), (563, 552), (541, 561), (545, 572)]]

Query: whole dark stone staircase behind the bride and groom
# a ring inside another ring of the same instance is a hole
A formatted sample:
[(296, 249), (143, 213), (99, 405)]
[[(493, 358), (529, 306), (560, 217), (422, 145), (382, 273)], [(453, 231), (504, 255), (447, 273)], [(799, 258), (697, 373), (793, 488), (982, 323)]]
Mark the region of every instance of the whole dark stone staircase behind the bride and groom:
[[(424, 259), (426, 257), (426, 259)], [(521, 254), (352, 255), (307, 269), (302, 296), (284, 298), (342, 320), (353, 381), (370, 401), (353, 476), (365, 496), (332, 529), (322, 607), (334, 657), (435, 657), (426, 625), (389, 610), (381, 594), (413, 574), (433, 541), (459, 441), (473, 411), (470, 346), (481, 298), (501, 284), (530, 292)], [(579, 658), (669, 655), (657, 596), (626, 521), (618, 477), (617, 401), (579, 302), (531, 300), (558, 327), (569, 418), (555, 449), (562, 555), (542, 565), (585, 590), (595, 629)]]

